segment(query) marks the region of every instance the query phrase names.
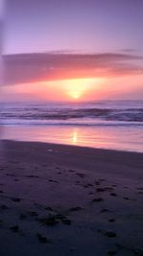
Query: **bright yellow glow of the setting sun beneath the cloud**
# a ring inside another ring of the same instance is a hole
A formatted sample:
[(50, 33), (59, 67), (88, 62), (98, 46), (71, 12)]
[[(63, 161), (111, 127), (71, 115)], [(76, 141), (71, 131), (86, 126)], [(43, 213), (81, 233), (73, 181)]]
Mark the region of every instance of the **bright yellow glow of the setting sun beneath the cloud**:
[[(105, 82), (103, 78), (82, 78), (82, 79), (66, 79), (59, 81), (41, 81), (37, 84), (38, 95), (41, 91), (46, 97), (50, 95), (51, 97), (56, 97), (57, 100), (66, 100), (66, 101), (86, 101), (91, 97), (92, 93), (95, 94), (95, 91), (101, 89), (101, 84)], [(34, 86), (35, 89), (35, 86)], [(52, 96), (53, 95), (53, 96)], [(55, 95), (55, 96), (54, 96)]]

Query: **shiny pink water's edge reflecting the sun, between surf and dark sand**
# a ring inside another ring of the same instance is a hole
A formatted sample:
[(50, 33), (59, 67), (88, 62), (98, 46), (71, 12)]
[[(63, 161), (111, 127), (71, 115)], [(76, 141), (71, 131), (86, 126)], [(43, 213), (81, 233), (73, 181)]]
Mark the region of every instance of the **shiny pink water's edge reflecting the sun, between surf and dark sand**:
[[(1, 128), (1, 127), (0, 127)], [(94, 149), (143, 152), (142, 128), (13, 126), (2, 127), (1, 138), (73, 145)]]

